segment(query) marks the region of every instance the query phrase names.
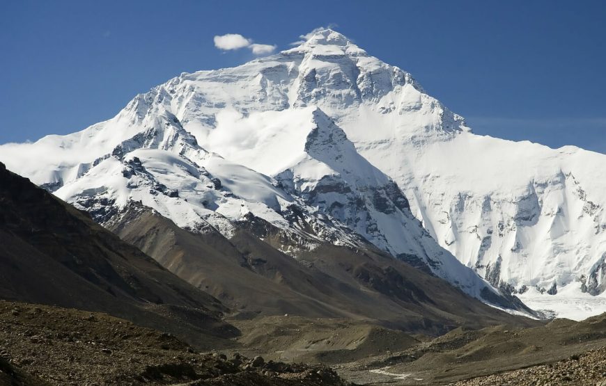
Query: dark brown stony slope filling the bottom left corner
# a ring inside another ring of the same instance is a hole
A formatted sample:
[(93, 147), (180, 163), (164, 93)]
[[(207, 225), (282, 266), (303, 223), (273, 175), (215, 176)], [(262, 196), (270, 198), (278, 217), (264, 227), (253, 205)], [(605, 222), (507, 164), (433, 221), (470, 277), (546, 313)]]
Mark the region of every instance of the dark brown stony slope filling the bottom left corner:
[(0, 384), (349, 385), (322, 365), (199, 353), (107, 314), (1, 300)]

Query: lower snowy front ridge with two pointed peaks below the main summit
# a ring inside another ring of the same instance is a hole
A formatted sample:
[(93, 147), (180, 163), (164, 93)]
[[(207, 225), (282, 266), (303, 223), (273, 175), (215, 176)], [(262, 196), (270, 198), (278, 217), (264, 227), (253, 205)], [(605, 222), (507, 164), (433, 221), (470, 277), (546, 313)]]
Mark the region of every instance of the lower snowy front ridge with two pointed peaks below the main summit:
[[(367, 240), (476, 298), (508, 304), (435, 243), (410, 213), (398, 186), (360, 156), (319, 108), (300, 108), (282, 125), (265, 127), (264, 154), (283, 150), (287, 138), (294, 145), (290, 156), (272, 160), (276, 179), (207, 152), (162, 108), (132, 122), (139, 127), (132, 138), (94, 161), (60, 166), (54, 175), (64, 177), (43, 185), (61, 185), (54, 192), (57, 196), (88, 211), (102, 225), (115, 222), (136, 202), (186, 230), (218, 230), (227, 237), (238, 223), (260, 218), (291, 240), (279, 248), (292, 255), (322, 241), (364, 248)], [(87, 147), (82, 142), (74, 146)], [(264, 165), (263, 157), (250, 152), (246, 143), (234, 146), (228, 156), (267, 171), (270, 163)]]

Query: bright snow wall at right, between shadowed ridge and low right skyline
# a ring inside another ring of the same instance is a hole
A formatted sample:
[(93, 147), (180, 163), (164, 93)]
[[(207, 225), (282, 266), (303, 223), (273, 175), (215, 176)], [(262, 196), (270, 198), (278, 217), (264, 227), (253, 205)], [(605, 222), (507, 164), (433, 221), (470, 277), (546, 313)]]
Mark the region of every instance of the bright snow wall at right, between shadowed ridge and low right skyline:
[(402, 165), (414, 170), (366, 156), (409, 182), (407, 195), (428, 230), (493, 284), (603, 291), (606, 157), (469, 133), (423, 152), (393, 147), (386, 154), (407, 154)]

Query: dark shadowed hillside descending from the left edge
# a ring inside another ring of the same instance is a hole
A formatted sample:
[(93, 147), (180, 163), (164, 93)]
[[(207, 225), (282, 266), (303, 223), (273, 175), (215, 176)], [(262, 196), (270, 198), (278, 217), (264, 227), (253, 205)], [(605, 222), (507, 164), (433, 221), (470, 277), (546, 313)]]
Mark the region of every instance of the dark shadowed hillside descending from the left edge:
[(0, 298), (107, 312), (199, 346), (238, 330), (227, 309), (0, 163)]

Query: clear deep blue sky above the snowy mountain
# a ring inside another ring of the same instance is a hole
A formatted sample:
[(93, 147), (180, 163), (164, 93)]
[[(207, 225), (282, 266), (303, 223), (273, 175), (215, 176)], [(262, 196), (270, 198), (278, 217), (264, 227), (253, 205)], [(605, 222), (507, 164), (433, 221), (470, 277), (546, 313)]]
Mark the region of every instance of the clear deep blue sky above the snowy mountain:
[(84, 129), (181, 72), (254, 58), (215, 35), (280, 50), (332, 25), (478, 134), (606, 152), (605, 19), (590, 0), (5, 0), (0, 143)]

